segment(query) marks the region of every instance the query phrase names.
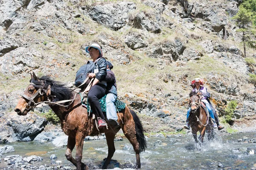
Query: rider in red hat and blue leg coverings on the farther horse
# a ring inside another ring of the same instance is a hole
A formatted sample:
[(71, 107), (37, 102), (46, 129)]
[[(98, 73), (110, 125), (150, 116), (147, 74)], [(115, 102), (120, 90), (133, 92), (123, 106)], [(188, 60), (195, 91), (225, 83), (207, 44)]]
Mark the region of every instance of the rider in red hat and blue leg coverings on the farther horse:
[[(206, 108), (209, 112), (209, 115), (212, 118), (212, 121), (214, 122), (214, 124), (213, 124), (214, 128), (218, 127), (218, 130), (221, 130), (224, 127), (219, 124), (218, 115), (217, 115), (215, 109), (212, 107), (211, 102), (208, 99), (211, 96), (211, 94), (207, 91), (207, 88), (205, 88), (203, 85), (204, 85), (203, 79), (195, 78), (191, 82), (191, 86), (193, 88), (192, 92), (199, 93), (200, 95), (202, 95), (202, 101), (205, 102)], [(186, 128), (186, 129), (190, 129), (190, 125), (188, 123), (190, 111), (191, 111), (191, 107), (187, 111), (186, 125), (184, 125), (184, 128)]]

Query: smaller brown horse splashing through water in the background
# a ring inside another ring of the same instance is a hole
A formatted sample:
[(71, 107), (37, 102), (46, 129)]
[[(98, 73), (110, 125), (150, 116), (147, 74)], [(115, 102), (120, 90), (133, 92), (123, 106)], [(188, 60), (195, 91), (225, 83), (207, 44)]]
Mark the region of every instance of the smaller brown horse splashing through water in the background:
[[(212, 121), (207, 118), (207, 113), (205, 112), (203, 106), (201, 105), (201, 95), (191, 92), (189, 94), (190, 100), (189, 105), (191, 107), (189, 115), (189, 125), (192, 129), (192, 134), (195, 139), (195, 143), (200, 144), (204, 142), (204, 135), (207, 132), (208, 140), (214, 137), (214, 130)], [(197, 139), (197, 132), (200, 132), (200, 136)]]

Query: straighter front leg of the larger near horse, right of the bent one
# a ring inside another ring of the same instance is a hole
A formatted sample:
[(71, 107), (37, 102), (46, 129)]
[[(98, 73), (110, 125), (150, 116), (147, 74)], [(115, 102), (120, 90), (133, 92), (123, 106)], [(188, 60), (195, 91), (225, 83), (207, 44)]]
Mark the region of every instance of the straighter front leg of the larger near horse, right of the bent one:
[[(86, 165), (81, 164), (82, 160), (82, 153), (83, 153), (83, 146), (84, 146), (84, 137), (81, 133), (76, 134), (76, 170), (86, 169)], [(82, 166), (83, 165), (83, 166)]]

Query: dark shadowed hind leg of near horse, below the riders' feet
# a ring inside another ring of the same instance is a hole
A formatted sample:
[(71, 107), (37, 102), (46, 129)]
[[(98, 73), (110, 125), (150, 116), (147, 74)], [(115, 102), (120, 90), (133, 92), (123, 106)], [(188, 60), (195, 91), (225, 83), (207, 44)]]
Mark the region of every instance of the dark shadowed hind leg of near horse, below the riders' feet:
[(115, 134), (111, 131), (111, 132), (105, 133), (105, 136), (106, 136), (106, 140), (107, 140), (107, 144), (108, 144), (108, 157), (105, 160), (105, 162), (102, 166), (102, 169), (107, 169), (108, 164), (116, 151), (115, 145), (114, 145)]

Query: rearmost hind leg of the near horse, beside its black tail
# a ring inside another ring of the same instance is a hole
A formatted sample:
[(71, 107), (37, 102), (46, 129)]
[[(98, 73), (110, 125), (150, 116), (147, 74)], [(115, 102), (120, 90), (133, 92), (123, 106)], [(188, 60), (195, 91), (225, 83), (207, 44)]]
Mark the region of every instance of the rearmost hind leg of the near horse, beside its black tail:
[(137, 141), (136, 137), (136, 130), (135, 130), (135, 124), (134, 121), (129, 120), (126, 122), (124, 127), (122, 128), (125, 137), (130, 141), (132, 144), (135, 154), (136, 154), (136, 169), (140, 168), (140, 144)]

